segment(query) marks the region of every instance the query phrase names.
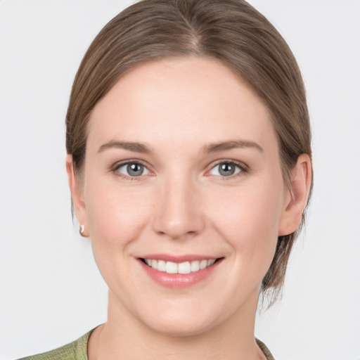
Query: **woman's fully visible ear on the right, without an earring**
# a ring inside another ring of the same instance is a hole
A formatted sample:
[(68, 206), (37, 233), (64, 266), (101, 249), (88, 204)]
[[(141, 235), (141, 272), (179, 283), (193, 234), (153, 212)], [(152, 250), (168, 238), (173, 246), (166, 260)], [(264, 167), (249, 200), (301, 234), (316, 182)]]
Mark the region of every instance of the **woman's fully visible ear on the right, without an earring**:
[(278, 236), (289, 235), (299, 228), (302, 221), (302, 212), (309, 198), (311, 179), (310, 157), (307, 154), (302, 154), (290, 173), (290, 186), (286, 188)]

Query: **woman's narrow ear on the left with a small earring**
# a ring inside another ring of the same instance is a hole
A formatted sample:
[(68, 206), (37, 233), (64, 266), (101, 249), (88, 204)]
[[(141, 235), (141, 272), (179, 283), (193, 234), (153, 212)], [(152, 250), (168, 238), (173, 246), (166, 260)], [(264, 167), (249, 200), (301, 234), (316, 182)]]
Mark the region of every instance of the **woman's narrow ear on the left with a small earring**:
[(86, 207), (84, 203), (82, 187), (79, 184), (79, 179), (75, 174), (74, 164), (72, 162), (72, 155), (66, 155), (66, 172), (68, 173), (68, 182), (71, 191), (72, 204), (75, 208), (77, 221), (80, 227), (84, 226), (82, 236), (89, 236), (89, 225), (87, 221)]

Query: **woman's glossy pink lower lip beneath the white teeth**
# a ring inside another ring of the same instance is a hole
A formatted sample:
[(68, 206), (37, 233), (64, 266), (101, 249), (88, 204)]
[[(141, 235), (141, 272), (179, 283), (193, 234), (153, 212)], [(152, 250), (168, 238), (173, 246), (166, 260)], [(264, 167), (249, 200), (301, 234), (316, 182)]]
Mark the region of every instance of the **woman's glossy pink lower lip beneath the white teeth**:
[(188, 286), (200, 283), (200, 281), (204, 281), (206, 278), (208, 278), (212, 272), (217, 269), (221, 259), (217, 260), (217, 262), (203, 270), (194, 271), (188, 274), (167, 274), (165, 271), (158, 271), (153, 269), (152, 267), (144, 264), (140, 259), (139, 262), (146, 273), (151, 278), (153, 278), (156, 283), (167, 288), (186, 288)]

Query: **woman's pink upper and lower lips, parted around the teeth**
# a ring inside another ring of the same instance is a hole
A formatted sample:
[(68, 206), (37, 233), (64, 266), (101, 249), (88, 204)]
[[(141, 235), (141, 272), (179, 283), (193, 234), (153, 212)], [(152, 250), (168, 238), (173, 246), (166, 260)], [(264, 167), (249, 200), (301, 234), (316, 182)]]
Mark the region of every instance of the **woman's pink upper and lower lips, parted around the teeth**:
[(200, 281), (205, 280), (212, 274), (212, 272), (217, 269), (217, 266), (221, 263), (222, 259), (217, 257), (209, 257), (204, 255), (182, 255), (182, 256), (174, 256), (174, 255), (166, 255), (166, 254), (151, 254), (146, 255), (143, 259), (157, 259), (164, 260), (165, 262), (192, 262), (196, 260), (202, 259), (217, 259), (217, 262), (212, 264), (211, 266), (207, 266), (205, 269), (200, 269), (198, 271), (194, 271), (188, 274), (168, 274), (165, 271), (158, 271), (157, 269), (153, 269), (148, 266), (139, 258), (139, 264), (141, 264), (146, 274), (153, 278), (153, 280), (167, 288), (185, 288), (191, 285), (195, 285), (196, 283), (200, 283)]

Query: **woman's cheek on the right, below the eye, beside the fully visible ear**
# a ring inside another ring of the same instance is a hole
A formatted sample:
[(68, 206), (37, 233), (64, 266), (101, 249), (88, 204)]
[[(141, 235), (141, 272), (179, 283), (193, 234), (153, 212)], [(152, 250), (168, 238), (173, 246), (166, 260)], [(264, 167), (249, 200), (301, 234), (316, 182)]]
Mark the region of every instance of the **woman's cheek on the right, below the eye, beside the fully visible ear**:
[(212, 207), (212, 222), (231, 245), (238, 266), (254, 269), (262, 278), (269, 269), (278, 240), (283, 207), (282, 181), (251, 184), (221, 195)]

